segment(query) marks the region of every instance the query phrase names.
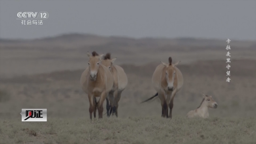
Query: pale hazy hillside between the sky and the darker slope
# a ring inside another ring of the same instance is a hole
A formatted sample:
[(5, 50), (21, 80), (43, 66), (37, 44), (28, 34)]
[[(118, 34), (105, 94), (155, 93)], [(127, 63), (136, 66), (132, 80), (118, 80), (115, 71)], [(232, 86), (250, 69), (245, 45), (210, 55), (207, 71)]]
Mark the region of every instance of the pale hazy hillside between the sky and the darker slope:
[[(256, 60), (256, 41), (229, 43), (231, 60)], [(20, 76), (87, 67), (87, 51), (111, 52), (116, 64), (142, 66), (181, 60), (226, 60), (226, 40), (196, 38), (130, 38), (91, 34), (63, 34), (32, 40), (0, 39), (0, 76)], [(225, 62), (223, 63), (223, 65)]]

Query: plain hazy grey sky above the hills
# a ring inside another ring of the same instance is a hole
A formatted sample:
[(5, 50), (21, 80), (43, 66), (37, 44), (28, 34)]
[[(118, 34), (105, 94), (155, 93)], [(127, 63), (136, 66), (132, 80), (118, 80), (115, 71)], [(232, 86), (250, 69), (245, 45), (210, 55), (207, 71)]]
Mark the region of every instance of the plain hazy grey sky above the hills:
[[(43, 25), (21, 25), (18, 12), (49, 13)], [(103, 36), (256, 40), (256, 0), (1, 0), (1, 38), (79, 32)]]

